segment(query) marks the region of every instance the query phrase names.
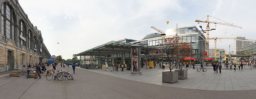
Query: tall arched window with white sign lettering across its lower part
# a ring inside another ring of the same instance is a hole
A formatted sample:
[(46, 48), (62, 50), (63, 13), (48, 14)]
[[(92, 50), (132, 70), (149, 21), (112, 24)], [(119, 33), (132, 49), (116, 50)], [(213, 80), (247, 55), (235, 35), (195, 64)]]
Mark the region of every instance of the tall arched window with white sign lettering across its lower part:
[(25, 24), (24, 21), (20, 20), (20, 29), (19, 29), (20, 35), (19, 35), (19, 39), (20, 39), (20, 44), (21, 45), (25, 45), (26, 44), (26, 38), (25, 38)]

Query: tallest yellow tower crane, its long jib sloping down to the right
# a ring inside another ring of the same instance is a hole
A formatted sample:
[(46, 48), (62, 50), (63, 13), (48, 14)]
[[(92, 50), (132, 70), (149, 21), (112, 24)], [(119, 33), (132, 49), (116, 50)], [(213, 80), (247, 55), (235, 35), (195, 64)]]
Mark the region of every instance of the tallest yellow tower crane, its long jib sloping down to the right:
[[(209, 29), (210, 29), (210, 27), (209, 27), (209, 24), (210, 23), (214, 23), (214, 24), (220, 24), (220, 25), (228, 25), (228, 26), (233, 26), (233, 27), (237, 27), (237, 28), (242, 28), (242, 26), (238, 26), (238, 25), (233, 25), (233, 24), (230, 24), (230, 23), (228, 23), (228, 22), (226, 22), (226, 23), (222, 23), (222, 22), (216, 22), (216, 21), (209, 21), (209, 17), (212, 17), (212, 16), (209, 16), (209, 15), (207, 15), (207, 20), (206, 21), (200, 21), (200, 20), (196, 20), (195, 22), (197, 22), (198, 24), (200, 23), (200, 22), (204, 22), (204, 23), (207, 23), (207, 26), (206, 26), (206, 31), (207, 31), (207, 38), (206, 38), (206, 40), (207, 40), (207, 42), (209, 43)], [(204, 17), (205, 18), (205, 17)], [(204, 19), (203, 18), (203, 19)], [(212, 18), (214, 18), (214, 17), (212, 17)], [(215, 18), (215, 19), (218, 19), (218, 18)], [(218, 19), (218, 20), (220, 20), (220, 19)], [(223, 21), (223, 20), (221, 20), (221, 21)], [(225, 22), (225, 21), (223, 21), (223, 22)]]

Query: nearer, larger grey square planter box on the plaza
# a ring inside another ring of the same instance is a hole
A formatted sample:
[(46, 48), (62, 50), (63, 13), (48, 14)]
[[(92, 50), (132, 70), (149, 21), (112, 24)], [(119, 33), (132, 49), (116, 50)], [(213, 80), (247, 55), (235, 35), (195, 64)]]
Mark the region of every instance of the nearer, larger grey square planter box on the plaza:
[(178, 72), (165, 71), (162, 72), (162, 82), (176, 83), (178, 82)]

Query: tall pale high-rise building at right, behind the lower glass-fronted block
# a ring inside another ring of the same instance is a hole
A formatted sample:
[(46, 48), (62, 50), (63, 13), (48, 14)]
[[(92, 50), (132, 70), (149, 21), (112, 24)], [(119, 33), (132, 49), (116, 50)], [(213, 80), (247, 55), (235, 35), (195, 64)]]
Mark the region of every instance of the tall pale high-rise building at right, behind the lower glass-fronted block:
[[(236, 54), (236, 55), (241, 54), (241, 48), (242, 47), (247, 46), (247, 45), (255, 42), (255, 40), (245, 39), (245, 37), (236, 37), (236, 38), (239, 38), (239, 39), (234, 40), (234, 54)], [(239, 58), (234, 57), (234, 60), (239, 60)]]

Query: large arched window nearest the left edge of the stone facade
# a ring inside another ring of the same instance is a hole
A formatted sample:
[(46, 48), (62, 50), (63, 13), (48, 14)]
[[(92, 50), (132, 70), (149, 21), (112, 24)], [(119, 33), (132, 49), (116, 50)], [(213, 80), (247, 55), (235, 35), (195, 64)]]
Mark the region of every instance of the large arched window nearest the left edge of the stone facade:
[[(12, 9), (6, 2), (2, 4), (2, 13), (1, 13), (1, 32), (2, 35), (5, 35), (6, 38), (14, 40), (15, 31), (14, 31), (14, 14)], [(5, 31), (4, 31), (5, 29)]]

